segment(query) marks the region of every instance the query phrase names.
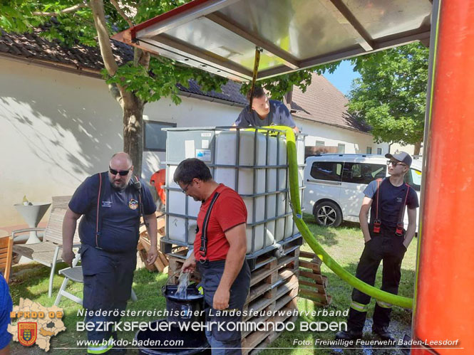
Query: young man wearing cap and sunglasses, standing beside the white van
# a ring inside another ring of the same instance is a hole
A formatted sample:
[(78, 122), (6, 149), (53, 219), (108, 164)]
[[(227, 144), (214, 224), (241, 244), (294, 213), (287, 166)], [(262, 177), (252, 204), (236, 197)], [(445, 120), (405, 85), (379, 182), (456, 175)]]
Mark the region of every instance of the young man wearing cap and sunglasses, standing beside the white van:
[[(377, 179), (364, 190), (364, 201), (359, 213), (362, 233), (364, 234), (364, 251), (356, 277), (374, 285), (378, 265), (383, 260), (381, 290), (398, 294), (401, 277), (401, 262), (416, 232), (416, 208), (418, 196), (415, 190), (405, 184), (403, 177), (411, 166), (411, 157), (406, 152), (386, 154), (388, 174), (385, 179)], [(408, 208), (408, 227), (403, 228), (405, 205)], [(371, 211), (370, 223), (367, 222)], [(363, 292), (352, 291), (351, 308), (347, 320), (347, 331), (336, 334), (336, 339), (361, 339), (371, 297)], [(373, 334), (383, 340), (395, 340), (388, 330), (391, 304), (376, 301), (373, 312)]]

